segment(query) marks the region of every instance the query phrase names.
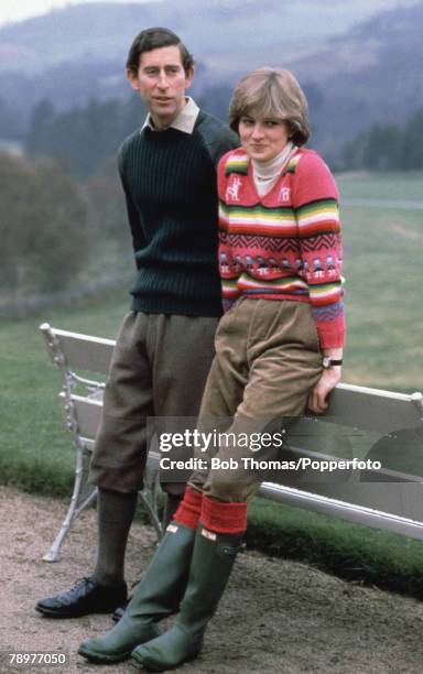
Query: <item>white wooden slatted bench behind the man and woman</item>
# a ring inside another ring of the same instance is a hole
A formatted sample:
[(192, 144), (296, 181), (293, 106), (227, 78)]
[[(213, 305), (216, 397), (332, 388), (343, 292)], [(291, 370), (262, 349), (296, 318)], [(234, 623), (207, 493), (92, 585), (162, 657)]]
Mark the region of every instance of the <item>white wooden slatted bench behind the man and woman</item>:
[[(54, 562), (73, 521), (96, 498), (96, 488), (87, 483), (88, 464), (101, 414), (105, 385), (101, 378), (108, 372), (115, 341), (56, 329), (46, 323), (40, 329), (53, 362), (63, 373), (61, 399), (76, 446), (69, 509), (43, 557)], [(376, 454), (380, 458), (383, 452), (392, 455), (393, 447), (394, 456), (388, 457), (388, 467), (383, 466), (377, 475), (335, 471), (335, 477), (322, 475), (321, 479), (318, 471), (308, 471), (295, 487), (286, 486), (286, 480), (284, 485), (263, 482), (259, 496), (423, 540), (422, 417), (422, 393), (408, 395), (338, 384), (330, 395), (327, 414), (300, 422), (293, 445), (290, 443), (293, 456), (323, 461), (354, 456), (375, 459)], [(330, 450), (326, 430), (332, 436)], [(140, 492), (158, 536), (162, 533), (158, 517), (159, 461), (160, 453), (150, 450), (145, 487)]]

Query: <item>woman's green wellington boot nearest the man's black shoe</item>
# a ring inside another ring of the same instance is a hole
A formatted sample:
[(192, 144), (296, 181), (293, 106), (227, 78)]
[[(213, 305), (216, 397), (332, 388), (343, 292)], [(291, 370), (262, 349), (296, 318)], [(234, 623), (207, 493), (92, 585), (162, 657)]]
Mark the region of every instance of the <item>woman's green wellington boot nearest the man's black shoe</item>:
[(156, 622), (175, 613), (184, 596), (195, 534), (177, 522), (167, 526), (123, 617), (104, 637), (82, 643), (80, 655), (93, 662), (121, 662), (138, 644), (160, 634)]

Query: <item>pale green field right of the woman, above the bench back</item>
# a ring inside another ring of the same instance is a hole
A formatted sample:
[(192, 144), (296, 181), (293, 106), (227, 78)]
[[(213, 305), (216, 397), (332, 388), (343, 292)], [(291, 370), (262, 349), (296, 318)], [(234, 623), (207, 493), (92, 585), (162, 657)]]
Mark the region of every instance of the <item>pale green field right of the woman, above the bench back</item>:
[[(390, 207), (341, 205), (348, 337), (345, 381), (423, 389), (421, 269), (423, 211), (392, 202), (423, 199), (423, 174), (339, 176), (346, 199), (390, 199)], [(406, 189), (405, 189), (406, 188)]]

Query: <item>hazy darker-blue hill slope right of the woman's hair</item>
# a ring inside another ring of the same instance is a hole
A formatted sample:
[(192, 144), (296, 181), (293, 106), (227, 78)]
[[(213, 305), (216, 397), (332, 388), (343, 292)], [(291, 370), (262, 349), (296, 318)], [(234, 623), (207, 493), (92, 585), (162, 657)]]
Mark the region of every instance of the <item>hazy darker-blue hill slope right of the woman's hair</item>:
[(401, 123), (423, 107), (422, 25), (423, 3), (382, 12), (292, 63), (300, 79), (322, 88), (314, 122), (327, 145), (329, 135), (335, 145), (371, 121)]

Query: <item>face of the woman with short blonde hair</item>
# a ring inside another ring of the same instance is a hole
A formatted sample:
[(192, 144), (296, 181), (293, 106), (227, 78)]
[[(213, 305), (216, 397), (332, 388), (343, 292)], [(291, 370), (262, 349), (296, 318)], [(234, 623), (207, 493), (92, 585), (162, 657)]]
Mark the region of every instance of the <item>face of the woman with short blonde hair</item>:
[(243, 115), (239, 120), (238, 132), (248, 156), (258, 162), (274, 159), (290, 140), (289, 124), (272, 117)]

